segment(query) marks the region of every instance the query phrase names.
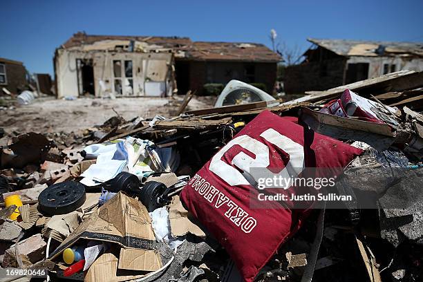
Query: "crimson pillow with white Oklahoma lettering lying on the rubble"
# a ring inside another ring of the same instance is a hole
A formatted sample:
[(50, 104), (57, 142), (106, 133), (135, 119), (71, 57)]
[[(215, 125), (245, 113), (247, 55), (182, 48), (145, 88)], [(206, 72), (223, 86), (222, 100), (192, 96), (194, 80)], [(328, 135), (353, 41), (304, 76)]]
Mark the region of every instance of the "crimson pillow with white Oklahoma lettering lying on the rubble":
[(281, 243), (301, 227), (308, 209), (283, 208), (278, 203), (260, 208), (260, 191), (250, 185), (243, 171), (250, 167), (274, 171), (303, 162), (303, 167), (338, 168), (332, 173), (339, 174), (339, 168), (362, 152), (293, 120), (263, 111), (181, 193), (189, 212), (225, 247), (245, 281), (253, 281)]

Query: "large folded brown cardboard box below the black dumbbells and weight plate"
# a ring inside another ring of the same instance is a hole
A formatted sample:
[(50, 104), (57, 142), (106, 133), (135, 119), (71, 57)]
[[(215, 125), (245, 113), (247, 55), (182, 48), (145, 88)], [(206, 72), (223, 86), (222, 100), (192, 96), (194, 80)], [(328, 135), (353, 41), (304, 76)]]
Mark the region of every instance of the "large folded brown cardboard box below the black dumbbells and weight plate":
[[(122, 192), (116, 194), (102, 205), (100, 209), (84, 220), (57, 247), (55, 252), (50, 254), (49, 259), (54, 259), (66, 247), (70, 247), (80, 238), (117, 243), (124, 248), (156, 251), (149, 252), (148, 256), (141, 256), (138, 259), (138, 266), (140, 267), (138, 270), (144, 270), (141, 268), (144, 265), (148, 268), (148, 270), (144, 271), (154, 271), (162, 267), (160, 254), (157, 252), (156, 237), (151, 227), (149, 212), (138, 200), (129, 198), (122, 194)], [(129, 254), (130, 252), (127, 255)], [(156, 259), (151, 259), (152, 254), (156, 255)], [(144, 258), (146, 261), (141, 262), (141, 258)], [(120, 262), (120, 267), (134, 268), (131, 262), (127, 261)]]

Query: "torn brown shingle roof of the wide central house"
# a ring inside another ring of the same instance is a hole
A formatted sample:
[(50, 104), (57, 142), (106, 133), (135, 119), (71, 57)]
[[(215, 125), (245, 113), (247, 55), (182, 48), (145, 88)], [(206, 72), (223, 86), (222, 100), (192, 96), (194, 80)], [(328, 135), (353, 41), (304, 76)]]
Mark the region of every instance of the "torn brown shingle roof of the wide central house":
[[(263, 44), (191, 41), (188, 37), (86, 35), (77, 32), (60, 48), (79, 51), (129, 50), (172, 52), (180, 59), (196, 61), (279, 62), (281, 57)], [(59, 49), (60, 49), (59, 48)]]

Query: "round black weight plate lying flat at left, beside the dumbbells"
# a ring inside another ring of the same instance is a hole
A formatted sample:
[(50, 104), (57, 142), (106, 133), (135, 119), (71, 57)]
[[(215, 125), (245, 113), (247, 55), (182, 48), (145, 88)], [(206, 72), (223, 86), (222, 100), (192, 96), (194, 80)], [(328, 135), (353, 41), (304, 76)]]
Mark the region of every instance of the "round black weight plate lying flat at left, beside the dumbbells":
[(47, 187), (38, 196), (40, 212), (48, 215), (68, 214), (85, 202), (85, 187), (79, 182), (66, 181)]

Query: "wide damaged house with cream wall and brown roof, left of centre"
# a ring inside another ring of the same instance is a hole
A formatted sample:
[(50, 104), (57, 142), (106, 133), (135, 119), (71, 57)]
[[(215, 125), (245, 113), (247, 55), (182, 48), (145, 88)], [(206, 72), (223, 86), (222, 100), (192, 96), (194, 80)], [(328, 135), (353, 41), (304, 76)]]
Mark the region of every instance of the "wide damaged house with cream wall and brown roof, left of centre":
[(231, 79), (272, 92), (281, 57), (263, 44), (193, 42), (187, 37), (86, 35), (56, 49), (57, 97), (151, 96), (204, 92)]

